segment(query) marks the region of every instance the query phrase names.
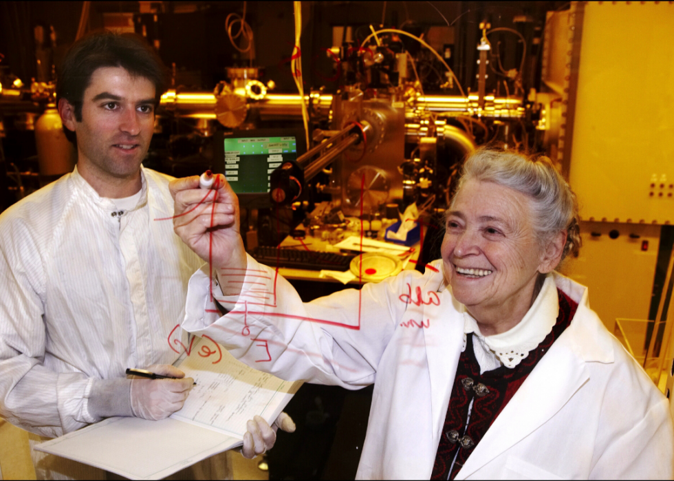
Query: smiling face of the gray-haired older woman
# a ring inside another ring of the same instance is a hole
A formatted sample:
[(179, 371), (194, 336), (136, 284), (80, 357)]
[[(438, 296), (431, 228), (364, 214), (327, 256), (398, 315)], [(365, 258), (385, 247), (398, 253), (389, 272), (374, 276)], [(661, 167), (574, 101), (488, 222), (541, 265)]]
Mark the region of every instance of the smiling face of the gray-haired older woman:
[(454, 297), (478, 322), (529, 309), (543, 261), (531, 217), (528, 197), (508, 187), (468, 180), (457, 193), (442, 259)]

